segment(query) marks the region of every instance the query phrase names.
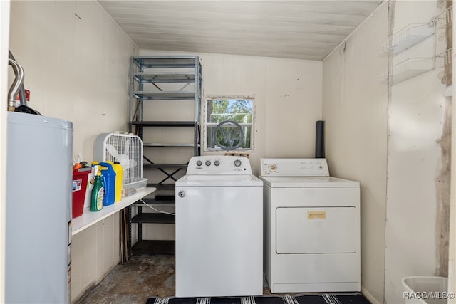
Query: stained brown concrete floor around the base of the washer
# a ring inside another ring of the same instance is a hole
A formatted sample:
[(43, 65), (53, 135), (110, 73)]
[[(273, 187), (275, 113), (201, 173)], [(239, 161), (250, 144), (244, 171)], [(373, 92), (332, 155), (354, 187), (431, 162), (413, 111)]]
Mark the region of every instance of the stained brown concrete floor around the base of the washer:
[[(270, 294), (264, 283), (264, 294)], [(175, 295), (175, 256), (133, 256), (113, 268), (108, 276), (76, 304), (145, 304), (150, 297)]]

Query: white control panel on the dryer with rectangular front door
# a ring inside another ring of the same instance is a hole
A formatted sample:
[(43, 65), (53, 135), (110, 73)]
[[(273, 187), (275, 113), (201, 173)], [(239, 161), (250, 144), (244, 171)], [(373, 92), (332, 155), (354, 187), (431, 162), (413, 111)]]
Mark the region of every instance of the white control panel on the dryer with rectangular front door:
[(262, 158), (261, 176), (264, 177), (328, 177), (328, 163), (324, 158)]

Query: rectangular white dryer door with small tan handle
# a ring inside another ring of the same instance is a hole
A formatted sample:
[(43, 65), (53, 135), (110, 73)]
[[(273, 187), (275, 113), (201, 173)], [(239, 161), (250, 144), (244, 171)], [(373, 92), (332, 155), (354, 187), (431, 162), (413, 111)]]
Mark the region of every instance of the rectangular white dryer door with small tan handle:
[(356, 252), (356, 208), (279, 207), (277, 253)]

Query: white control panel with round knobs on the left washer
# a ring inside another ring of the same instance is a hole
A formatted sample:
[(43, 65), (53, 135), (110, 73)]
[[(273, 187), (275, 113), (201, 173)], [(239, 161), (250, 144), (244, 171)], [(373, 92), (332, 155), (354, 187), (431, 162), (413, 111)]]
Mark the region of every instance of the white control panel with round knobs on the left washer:
[(187, 175), (195, 174), (252, 174), (247, 157), (229, 155), (195, 156), (190, 159)]

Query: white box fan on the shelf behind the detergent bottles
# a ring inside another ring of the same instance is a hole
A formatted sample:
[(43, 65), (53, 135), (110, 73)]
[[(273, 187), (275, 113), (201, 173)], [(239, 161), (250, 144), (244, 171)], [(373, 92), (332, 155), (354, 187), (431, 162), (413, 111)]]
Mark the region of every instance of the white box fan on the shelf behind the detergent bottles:
[(142, 178), (140, 137), (125, 132), (102, 133), (96, 138), (93, 151), (96, 162), (120, 162), (124, 189), (146, 186), (147, 179)]

